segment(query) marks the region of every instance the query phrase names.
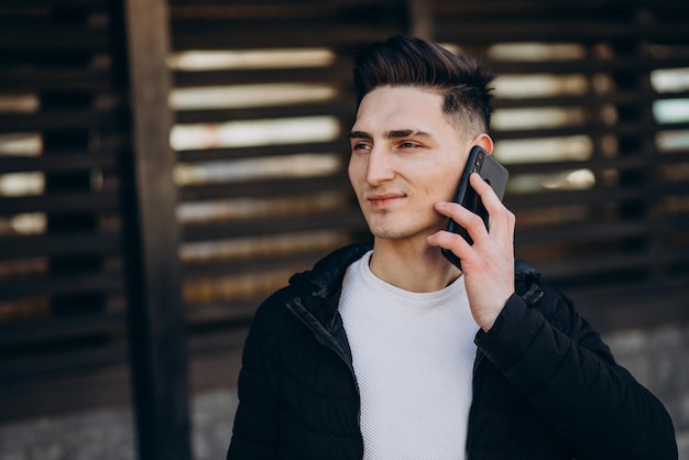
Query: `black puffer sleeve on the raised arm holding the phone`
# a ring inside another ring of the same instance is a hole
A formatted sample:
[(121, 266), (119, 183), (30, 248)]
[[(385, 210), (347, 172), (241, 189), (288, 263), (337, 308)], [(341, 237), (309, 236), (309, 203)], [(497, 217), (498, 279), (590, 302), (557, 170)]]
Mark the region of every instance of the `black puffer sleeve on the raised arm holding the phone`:
[(578, 459), (677, 459), (663, 404), (560, 293), (546, 291), (535, 306), (514, 294), (477, 346)]

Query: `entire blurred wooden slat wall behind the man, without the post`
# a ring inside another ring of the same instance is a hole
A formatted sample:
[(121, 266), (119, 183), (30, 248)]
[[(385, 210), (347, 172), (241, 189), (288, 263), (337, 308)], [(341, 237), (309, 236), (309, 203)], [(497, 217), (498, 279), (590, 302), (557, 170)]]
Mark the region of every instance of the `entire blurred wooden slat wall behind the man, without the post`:
[[(114, 51), (124, 34), (111, 11), (120, 3), (14, 3), (0, 7), (0, 418), (129, 397), (123, 267), (141, 255), (123, 240), (131, 209), (121, 197), (133, 184), (131, 108), (118, 74), (125, 62)], [(689, 120), (661, 121), (653, 108), (689, 94), (686, 85), (659, 92), (650, 79), (689, 68), (682, 2), (168, 7), (182, 229), (171, 251), (192, 368), (204, 370), (197, 384), (233, 382), (228, 350), (241, 348), (266, 294), (328, 250), (367, 238), (346, 177), (350, 61), (359, 46), (411, 30), (484, 55), (503, 76), (492, 134), (512, 173), (518, 255), (604, 329), (687, 319)], [(545, 54), (504, 46), (515, 42)], [(320, 57), (308, 64), (295, 51)], [(222, 62), (187, 65), (207, 53)], [(523, 156), (531, 143), (540, 156)], [(20, 173), (34, 188), (8, 185)], [(51, 388), (68, 397), (51, 398)]]

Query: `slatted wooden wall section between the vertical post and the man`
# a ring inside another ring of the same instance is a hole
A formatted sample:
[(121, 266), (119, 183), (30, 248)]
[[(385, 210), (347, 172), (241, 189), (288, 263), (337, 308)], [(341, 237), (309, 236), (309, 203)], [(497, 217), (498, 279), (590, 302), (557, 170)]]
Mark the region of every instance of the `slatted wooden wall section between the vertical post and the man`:
[[(175, 107), (176, 129), (203, 125), (210, 138), (206, 145), (178, 147), (185, 299), (190, 324), (207, 330), (251, 318), (289, 274), (365, 231), (346, 174), (351, 56), (372, 40), (404, 31), (406, 8), (401, 1), (174, 0), (171, 13), (176, 62), (199, 53), (244, 59), (272, 53), (261, 64), (193, 69), (173, 64), (177, 92), (215, 88), (221, 97), (241, 87), (258, 90), (260, 98), (261, 90), (277, 91), (275, 100), (222, 105), (211, 99), (206, 107)], [(305, 64), (297, 52), (321, 57)], [(314, 89), (280, 100), (281, 88), (288, 95), (305, 87)], [(314, 98), (314, 91), (325, 95)], [(250, 130), (242, 123), (252, 122), (266, 123), (265, 131), (244, 144), (220, 132), (232, 123), (238, 131)], [(294, 123), (289, 132), (273, 135), (287, 123)], [(238, 172), (272, 164), (283, 172)], [(185, 179), (185, 174), (199, 177)]]

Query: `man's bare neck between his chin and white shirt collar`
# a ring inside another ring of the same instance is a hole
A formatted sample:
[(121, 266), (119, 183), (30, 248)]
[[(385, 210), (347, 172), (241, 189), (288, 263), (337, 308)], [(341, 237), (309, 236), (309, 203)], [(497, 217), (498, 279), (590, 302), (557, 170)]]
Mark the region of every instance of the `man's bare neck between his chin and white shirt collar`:
[(375, 240), (370, 266), (379, 278), (414, 293), (442, 289), (461, 275), (438, 248), (425, 241)]

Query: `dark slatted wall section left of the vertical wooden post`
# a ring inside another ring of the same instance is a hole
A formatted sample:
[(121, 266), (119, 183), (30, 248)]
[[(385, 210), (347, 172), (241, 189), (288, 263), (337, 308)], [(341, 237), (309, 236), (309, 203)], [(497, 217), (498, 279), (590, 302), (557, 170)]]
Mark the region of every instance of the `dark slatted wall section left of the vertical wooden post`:
[(32, 393), (48, 377), (127, 361), (129, 109), (110, 15), (106, 0), (0, 6), (0, 418), (64, 407)]

